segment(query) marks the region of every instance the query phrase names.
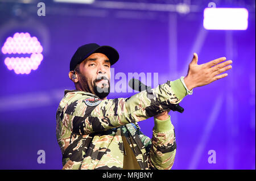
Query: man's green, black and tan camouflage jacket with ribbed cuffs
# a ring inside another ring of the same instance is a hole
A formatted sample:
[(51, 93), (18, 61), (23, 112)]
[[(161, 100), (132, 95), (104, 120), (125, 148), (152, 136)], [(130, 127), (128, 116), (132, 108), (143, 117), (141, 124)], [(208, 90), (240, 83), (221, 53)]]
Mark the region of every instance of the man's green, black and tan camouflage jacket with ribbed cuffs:
[(179, 103), (185, 95), (180, 79), (130, 98), (101, 100), (89, 92), (66, 90), (56, 112), (63, 169), (122, 169), (121, 132), (141, 169), (171, 169), (176, 141), (170, 117), (154, 119), (152, 139), (140, 131), (137, 122)]

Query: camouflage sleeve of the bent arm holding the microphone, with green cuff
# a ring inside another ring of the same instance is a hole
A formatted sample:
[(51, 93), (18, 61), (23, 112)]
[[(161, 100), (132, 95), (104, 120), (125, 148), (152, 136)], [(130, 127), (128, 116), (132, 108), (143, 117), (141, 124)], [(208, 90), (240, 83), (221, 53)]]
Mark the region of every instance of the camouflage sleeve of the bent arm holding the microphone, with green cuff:
[(174, 125), (170, 116), (167, 120), (154, 118), (154, 122), (152, 145), (148, 156), (149, 167), (170, 170), (176, 154)]

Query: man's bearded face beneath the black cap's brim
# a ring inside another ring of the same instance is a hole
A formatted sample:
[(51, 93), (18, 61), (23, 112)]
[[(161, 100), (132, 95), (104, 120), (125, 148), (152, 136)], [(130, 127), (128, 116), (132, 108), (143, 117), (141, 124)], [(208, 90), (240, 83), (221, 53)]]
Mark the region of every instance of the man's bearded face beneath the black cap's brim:
[(102, 53), (93, 53), (79, 65), (79, 83), (83, 91), (105, 98), (110, 92), (110, 61)]

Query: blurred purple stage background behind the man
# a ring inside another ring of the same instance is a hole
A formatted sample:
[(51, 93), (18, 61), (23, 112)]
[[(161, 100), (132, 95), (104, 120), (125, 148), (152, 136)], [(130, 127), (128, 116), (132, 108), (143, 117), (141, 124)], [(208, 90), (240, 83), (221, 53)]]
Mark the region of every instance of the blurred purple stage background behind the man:
[[(255, 1), (212, 1), (217, 7), (245, 7), (245, 31), (205, 30), (203, 10), (210, 1), (185, 1), (191, 3), (188, 14), (41, 1), (46, 16), (37, 15), (40, 1), (31, 2), (0, 1), (1, 47), (15, 32), (29, 32), (44, 48), (43, 61), (30, 74), (7, 69), (7, 55), (0, 53), (0, 169), (62, 168), (55, 113), (64, 90), (74, 89), (69, 61), (86, 43), (118, 50), (114, 74), (127, 79), (128, 73), (151, 73), (153, 79), (158, 73), (159, 84), (185, 76), (194, 52), (198, 64), (222, 56), (232, 60), (228, 77), (194, 89), (180, 103), (183, 113), (170, 112), (177, 142), (172, 169), (255, 169)], [(108, 99), (133, 94), (112, 92)], [(152, 118), (139, 125), (152, 137)], [(38, 150), (45, 151), (46, 163), (38, 163)], [(209, 150), (216, 163), (208, 162)]]

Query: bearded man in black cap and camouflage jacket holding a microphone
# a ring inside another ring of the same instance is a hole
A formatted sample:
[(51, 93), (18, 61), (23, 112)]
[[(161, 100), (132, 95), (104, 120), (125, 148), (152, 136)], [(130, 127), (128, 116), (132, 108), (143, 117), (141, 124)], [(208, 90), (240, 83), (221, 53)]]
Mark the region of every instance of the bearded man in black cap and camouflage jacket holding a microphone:
[[(63, 169), (171, 169), (176, 141), (170, 104), (180, 103), (195, 87), (226, 77), (221, 73), (232, 68), (225, 57), (197, 65), (194, 53), (185, 78), (130, 98), (106, 99), (110, 66), (118, 59), (117, 50), (94, 43), (82, 45), (73, 55), (69, 78), (76, 90), (65, 90), (56, 113)], [(152, 116), (150, 140), (137, 122)]]

